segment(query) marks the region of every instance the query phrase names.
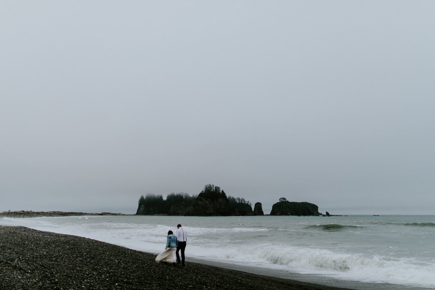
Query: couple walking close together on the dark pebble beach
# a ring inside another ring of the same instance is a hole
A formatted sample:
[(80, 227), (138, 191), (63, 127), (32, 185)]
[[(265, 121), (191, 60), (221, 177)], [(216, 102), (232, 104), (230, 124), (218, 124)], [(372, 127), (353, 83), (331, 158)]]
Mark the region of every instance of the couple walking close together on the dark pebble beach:
[[(165, 251), (156, 257), (156, 262), (173, 263), (175, 266), (176, 263), (180, 263), (178, 252), (181, 250), (181, 265), (184, 266), (184, 249), (186, 248), (186, 242), (186, 230), (178, 224), (175, 235), (172, 231), (167, 232)], [(175, 257), (177, 257), (177, 261), (175, 261)]]

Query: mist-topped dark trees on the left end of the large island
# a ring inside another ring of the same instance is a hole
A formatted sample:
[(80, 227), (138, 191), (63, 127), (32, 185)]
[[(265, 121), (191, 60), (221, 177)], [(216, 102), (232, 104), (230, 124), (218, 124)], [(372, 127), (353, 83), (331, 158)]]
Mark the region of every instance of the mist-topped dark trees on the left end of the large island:
[(190, 196), (186, 192), (171, 192), (163, 199), (163, 196), (155, 194), (147, 194), (146, 196), (141, 196), (139, 199), (139, 208), (144, 206), (144, 215), (150, 214), (167, 214), (171, 209), (171, 206), (177, 203), (185, 204), (188, 206), (196, 199), (197, 196)]

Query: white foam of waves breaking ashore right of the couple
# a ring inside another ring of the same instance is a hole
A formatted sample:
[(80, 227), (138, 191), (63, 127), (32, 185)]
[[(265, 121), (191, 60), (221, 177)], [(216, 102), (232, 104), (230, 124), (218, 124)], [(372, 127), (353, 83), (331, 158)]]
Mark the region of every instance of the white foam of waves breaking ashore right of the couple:
[[(418, 266), (404, 261), (368, 259), (325, 250), (259, 245), (256, 248), (193, 247), (199, 258), (229, 260), (243, 265), (288, 270), (298, 273), (333, 275), (335, 278), (365, 282), (385, 282), (409, 286), (434, 287), (435, 266)], [(187, 248), (186, 248), (187, 249)]]

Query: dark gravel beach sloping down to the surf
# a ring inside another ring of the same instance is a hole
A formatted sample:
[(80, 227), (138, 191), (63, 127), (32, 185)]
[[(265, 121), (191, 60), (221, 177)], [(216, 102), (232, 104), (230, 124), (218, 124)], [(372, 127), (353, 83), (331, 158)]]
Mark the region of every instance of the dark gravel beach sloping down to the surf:
[(0, 226), (0, 289), (343, 290), (156, 255), (78, 236)]

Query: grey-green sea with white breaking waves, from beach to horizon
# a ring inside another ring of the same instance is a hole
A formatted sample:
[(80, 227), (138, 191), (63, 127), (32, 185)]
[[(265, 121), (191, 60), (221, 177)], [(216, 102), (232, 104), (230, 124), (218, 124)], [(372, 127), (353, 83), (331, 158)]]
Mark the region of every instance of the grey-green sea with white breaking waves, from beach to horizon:
[[(0, 224), (160, 253), (181, 223), (186, 256), (340, 280), (435, 288), (435, 216), (68, 216)], [(394, 287), (393, 287), (394, 289)]]

